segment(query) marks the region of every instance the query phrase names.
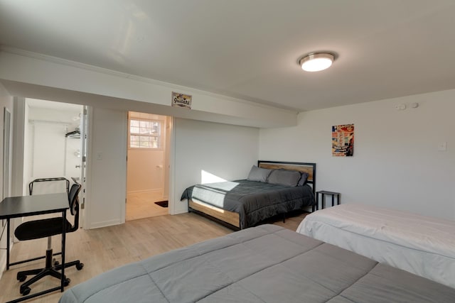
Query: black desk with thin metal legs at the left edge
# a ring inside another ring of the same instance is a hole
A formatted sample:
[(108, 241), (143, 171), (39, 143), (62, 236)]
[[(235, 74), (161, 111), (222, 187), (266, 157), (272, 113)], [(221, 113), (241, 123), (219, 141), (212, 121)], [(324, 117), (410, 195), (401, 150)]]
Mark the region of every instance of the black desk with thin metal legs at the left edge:
[[(9, 197), (5, 198), (0, 203), (0, 219), (6, 219), (7, 224), (7, 241), (6, 241), (6, 270), (9, 270), (10, 265), (16, 265), (23, 262), (9, 263), (9, 242), (10, 242), (10, 219), (21, 218), (23, 216), (36, 216), (40, 214), (53, 214), (62, 213), (62, 220), (65, 222), (66, 210), (70, 208), (68, 202), (68, 194), (66, 192), (58, 194), (37, 194), (35, 196), (23, 196), (23, 197)], [(41, 294), (47, 294), (49, 292), (55, 292), (60, 290), (63, 292), (65, 282), (65, 223), (62, 224), (62, 279), (60, 287), (50, 288), (49, 290), (43, 290), (36, 294), (30, 294), (28, 296), (21, 297), (11, 302), (21, 302), (26, 299), (41, 296)]]

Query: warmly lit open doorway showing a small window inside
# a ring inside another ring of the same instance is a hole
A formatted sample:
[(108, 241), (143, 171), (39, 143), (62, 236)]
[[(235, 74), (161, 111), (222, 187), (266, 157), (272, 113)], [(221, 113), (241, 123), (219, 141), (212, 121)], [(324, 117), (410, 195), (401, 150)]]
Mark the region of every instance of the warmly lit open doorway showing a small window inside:
[(128, 112), (126, 221), (169, 214), (171, 117)]

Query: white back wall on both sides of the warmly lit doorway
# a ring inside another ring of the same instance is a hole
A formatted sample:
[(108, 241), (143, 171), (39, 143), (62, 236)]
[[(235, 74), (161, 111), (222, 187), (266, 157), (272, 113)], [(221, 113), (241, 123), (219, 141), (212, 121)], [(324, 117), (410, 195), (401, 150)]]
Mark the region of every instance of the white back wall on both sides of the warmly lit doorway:
[[(97, 228), (124, 222), (126, 197), (127, 112), (92, 109), (87, 171), (87, 216)], [(259, 129), (221, 123), (175, 119), (174, 186), (171, 214), (188, 210), (183, 190), (200, 183), (202, 171), (225, 180), (247, 177), (257, 164)], [(101, 159), (99, 157), (101, 153)]]

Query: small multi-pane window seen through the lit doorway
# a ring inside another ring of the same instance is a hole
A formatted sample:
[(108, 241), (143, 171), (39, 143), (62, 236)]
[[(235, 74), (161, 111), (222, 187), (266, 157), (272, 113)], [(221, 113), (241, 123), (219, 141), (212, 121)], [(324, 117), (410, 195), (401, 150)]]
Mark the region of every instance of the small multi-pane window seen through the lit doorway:
[(162, 121), (129, 120), (130, 148), (161, 148)]

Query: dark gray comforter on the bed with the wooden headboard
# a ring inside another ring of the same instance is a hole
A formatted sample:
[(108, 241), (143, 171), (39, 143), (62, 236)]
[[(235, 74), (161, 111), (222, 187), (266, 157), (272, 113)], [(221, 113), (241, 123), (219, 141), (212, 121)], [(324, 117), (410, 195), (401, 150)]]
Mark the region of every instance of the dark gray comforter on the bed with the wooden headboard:
[(195, 199), (235, 211), (240, 215), (240, 228), (316, 204), (308, 184), (289, 187), (249, 180), (194, 185), (185, 189), (181, 199)]

